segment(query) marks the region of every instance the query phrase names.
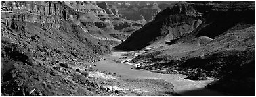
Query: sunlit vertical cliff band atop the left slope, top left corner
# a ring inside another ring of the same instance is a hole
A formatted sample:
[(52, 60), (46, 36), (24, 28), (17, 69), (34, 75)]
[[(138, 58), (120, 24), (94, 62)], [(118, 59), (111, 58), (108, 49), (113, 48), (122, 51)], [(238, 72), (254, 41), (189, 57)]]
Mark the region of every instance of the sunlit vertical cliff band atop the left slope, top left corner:
[[(15, 28), (14, 20), (56, 24), (58, 20), (68, 20), (69, 11), (65, 6), (51, 2), (2, 2), (2, 23)], [(19, 29), (19, 28), (17, 28)]]

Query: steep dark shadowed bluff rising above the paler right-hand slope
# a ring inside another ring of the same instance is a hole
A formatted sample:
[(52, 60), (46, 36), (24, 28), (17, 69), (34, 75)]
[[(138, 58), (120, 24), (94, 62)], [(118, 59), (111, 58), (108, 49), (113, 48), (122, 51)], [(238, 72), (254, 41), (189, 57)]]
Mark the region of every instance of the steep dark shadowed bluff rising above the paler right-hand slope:
[(200, 36), (215, 38), (240, 22), (253, 24), (252, 11), (252, 3), (177, 3), (114, 48), (131, 51), (154, 43), (175, 44)]

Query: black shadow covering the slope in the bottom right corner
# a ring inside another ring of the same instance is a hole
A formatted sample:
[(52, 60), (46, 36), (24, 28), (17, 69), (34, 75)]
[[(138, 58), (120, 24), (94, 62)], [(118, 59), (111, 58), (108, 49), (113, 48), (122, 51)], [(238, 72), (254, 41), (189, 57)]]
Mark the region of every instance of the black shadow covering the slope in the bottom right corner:
[(242, 67), (228, 73), (222, 79), (208, 84), (206, 87), (232, 95), (255, 95), (255, 62), (240, 64)]

